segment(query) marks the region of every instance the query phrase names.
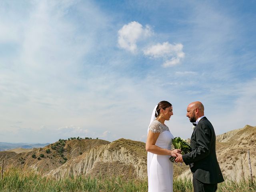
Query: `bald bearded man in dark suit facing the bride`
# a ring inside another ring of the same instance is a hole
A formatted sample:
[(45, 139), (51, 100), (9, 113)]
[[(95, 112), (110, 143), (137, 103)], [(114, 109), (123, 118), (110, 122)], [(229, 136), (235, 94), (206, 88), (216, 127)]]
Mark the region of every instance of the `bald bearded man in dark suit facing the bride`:
[(186, 116), (196, 126), (190, 140), (192, 152), (176, 154), (175, 161), (189, 164), (194, 192), (216, 192), (218, 183), (224, 179), (216, 157), (214, 128), (204, 116), (204, 106), (199, 101), (188, 105)]

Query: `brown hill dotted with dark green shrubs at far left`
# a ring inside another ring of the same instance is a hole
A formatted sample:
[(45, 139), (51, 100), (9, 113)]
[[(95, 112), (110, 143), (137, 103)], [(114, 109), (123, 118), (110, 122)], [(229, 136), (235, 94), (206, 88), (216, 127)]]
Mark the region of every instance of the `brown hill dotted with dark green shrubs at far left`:
[(45, 174), (95, 146), (109, 143), (100, 139), (59, 140), (44, 148), (34, 148), (28, 152), (17, 154), (4, 151), (0, 152), (0, 165), (2, 165), (2, 159), (4, 159), (5, 168), (9, 166), (30, 167)]

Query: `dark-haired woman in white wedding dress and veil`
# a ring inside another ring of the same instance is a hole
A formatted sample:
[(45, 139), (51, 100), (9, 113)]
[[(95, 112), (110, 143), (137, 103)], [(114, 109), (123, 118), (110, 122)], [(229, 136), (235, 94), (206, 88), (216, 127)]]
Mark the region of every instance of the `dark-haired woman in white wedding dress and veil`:
[(173, 164), (169, 157), (176, 157), (176, 153), (181, 152), (171, 150), (174, 136), (164, 124), (172, 115), (172, 104), (168, 101), (159, 102), (152, 112), (146, 141), (148, 192), (172, 192)]

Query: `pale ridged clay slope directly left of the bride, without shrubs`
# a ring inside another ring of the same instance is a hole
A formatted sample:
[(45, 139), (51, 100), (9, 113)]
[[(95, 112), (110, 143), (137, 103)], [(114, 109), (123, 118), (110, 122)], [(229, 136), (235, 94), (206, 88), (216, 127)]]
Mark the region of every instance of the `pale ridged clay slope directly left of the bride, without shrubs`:
[(146, 178), (146, 151), (143, 142), (119, 139), (95, 146), (81, 156), (68, 161), (49, 174), (56, 178), (80, 174), (96, 176), (120, 175), (126, 178)]

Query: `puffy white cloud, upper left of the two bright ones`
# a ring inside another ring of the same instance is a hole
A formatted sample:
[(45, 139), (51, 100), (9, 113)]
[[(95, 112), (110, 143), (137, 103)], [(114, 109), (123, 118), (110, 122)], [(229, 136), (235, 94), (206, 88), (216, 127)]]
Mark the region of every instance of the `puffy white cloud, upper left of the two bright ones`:
[(143, 27), (142, 24), (133, 21), (124, 25), (118, 30), (118, 45), (120, 48), (135, 53), (137, 50), (137, 41), (143, 40), (153, 34), (150, 26)]

